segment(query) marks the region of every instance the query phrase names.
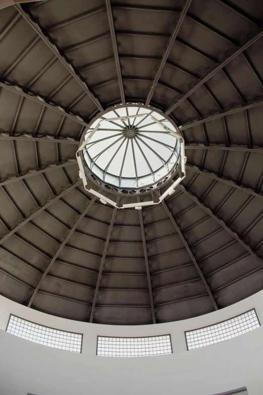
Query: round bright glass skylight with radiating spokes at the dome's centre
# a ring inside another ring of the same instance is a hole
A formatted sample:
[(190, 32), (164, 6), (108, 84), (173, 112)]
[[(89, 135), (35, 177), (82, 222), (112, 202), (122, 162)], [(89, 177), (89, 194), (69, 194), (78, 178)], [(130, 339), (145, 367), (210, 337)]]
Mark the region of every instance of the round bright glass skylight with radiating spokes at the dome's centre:
[(178, 165), (176, 135), (172, 122), (153, 107), (114, 106), (86, 129), (86, 170), (101, 186), (119, 193), (158, 188)]

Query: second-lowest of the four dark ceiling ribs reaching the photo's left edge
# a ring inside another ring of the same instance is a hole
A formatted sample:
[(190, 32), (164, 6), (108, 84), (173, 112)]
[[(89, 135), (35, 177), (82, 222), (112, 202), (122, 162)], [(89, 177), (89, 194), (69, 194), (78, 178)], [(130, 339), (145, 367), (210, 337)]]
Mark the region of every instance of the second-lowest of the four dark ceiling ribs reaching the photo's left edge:
[(32, 169), (26, 170), (23, 173), (14, 174), (13, 176), (9, 176), (3, 180), (0, 180), (0, 187), (2, 187), (3, 185), (13, 183), (14, 181), (23, 180), (25, 178), (35, 176), (36, 174), (46, 173), (46, 172), (49, 172), (50, 170), (54, 170), (56, 168), (61, 168), (61, 167), (65, 167), (65, 166), (70, 166), (75, 163), (77, 163), (77, 159), (76, 159), (76, 157), (72, 157), (72, 158), (62, 160), (61, 162), (49, 163), (49, 164), (46, 164), (45, 166), (42, 166), (42, 167), (32, 168)]

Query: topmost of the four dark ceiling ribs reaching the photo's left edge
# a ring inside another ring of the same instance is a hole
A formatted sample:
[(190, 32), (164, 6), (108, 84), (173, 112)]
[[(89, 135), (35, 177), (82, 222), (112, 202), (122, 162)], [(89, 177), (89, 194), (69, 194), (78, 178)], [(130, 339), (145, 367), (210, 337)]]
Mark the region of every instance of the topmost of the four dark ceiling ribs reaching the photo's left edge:
[(39, 94), (33, 92), (30, 89), (27, 89), (23, 86), (15, 84), (7, 79), (0, 78), (0, 87), (11, 90), (12, 92), (18, 93), (27, 99), (36, 101), (38, 104), (42, 104), (47, 108), (51, 108), (54, 111), (59, 112), (59, 114), (64, 115), (67, 118), (71, 118), (72, 120), (78, 122), (81, 125), (87, 126), (88, 124), (73, 111), (68, 111), (67, 108), (62, 107), (60, 104), (55, 103), (52, 100), (47, 99), (46, 97), (40, 96)]

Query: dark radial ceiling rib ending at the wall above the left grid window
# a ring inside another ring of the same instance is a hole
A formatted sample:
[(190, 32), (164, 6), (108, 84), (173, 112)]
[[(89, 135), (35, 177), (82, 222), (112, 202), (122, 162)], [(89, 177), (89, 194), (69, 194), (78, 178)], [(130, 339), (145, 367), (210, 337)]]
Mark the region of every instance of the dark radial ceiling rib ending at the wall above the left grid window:
[(78, 227), (79, 223), (81, 222), (81, 220), (84, 218), (84, 216), (87, 214), (87, 212), (89, 211), (89, 209), (91, 208), (91, 206), (93, 205), (93, 203), (95, 202), (95, 200), (97, 199), (96, 196), (93, 196), (93, 198), (91, 200), (89, 200), (84, 208), (82, 209), (81, 213), (77, 216), (77, 218), (75, 219), (71, 229), (69, 230), (69, 232), (67, 232), (65, 234), (65, 236), (63, 237), (63, 240), (61, 241), (61, 243), (59, 244), (59, 246), (57, 247), (52, 259), (50, 260), (50, 262), (48, 263), (45, 271), (41, 274), (40, 278), (38, 279), (36, 288), (34, 289), (31, 298), (28, 302), (28, 307), (31, 307), (34, 298), (42, 284), (42, 281), (44, 280), (44, 278), (46, 277), (48, 271), (50, 270), (50, 268), (52, 267), (53, 263), (55, 262), (56, 258), (58, 257), (58, 255), (60, 254), (60, 252), (62, 251), (62, 249), (64, 248), (64, 246), (67, 244), (67, 242), (69, 241), (69, 239), (71, 238), (71, 236), (73, 235), (73, 233), (75, 232), (76, 228)]

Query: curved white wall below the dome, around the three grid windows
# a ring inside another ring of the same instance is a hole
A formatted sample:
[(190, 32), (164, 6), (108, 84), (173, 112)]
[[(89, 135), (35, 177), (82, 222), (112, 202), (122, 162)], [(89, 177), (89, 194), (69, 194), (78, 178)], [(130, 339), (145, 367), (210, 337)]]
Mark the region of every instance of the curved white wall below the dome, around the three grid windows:
[[(212, 395), (247, 387), (263, 394), (263, 326), (199, 350), (186, 351), (184, 331), (255, 308), (263, 322), (263, 291), (202, 317), (143, 326), (77, 322), (43, 314), (0, 297), (0, 395)], [(5, 332), (10, 313), (84, 334), (82, 354), (51, 349)], [(173, 354), (143, 358), (96, 356), (97, 335), (170, 333)]]

